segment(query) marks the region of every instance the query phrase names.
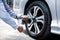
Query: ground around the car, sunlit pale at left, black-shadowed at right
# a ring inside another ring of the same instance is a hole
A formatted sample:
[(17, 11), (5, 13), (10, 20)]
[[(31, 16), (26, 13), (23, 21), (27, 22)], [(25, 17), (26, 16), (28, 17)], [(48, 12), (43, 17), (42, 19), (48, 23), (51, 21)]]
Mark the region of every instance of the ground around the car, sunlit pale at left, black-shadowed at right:
[[(60, 40), (60, 35), (50, 34), (50, 36), (46, 39)], [(17, 30), (14, 30), (11, 26), (0, 20), (0, 40), (35, 40), (35, 39), (29, 37), (25, 32), (19, 33)]]

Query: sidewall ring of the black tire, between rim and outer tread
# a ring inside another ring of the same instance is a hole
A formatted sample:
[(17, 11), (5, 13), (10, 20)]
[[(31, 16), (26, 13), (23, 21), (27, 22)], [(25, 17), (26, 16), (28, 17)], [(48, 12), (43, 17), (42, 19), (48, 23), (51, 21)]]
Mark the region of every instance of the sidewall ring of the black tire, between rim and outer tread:
[(46, 32), (47, 28), (49, 27), (49, 24), (48, 24), (48, 22), (49, 22), (48, 20), (49, 20), (49, 19), (48, 19), (48, 18), (50, 18), (50, 17), (49, 17), (48, 8), (47, 8), (47, 6), (44, 4), (44, 2), (42, 2), (42, 1), (35, 1), (35, 2), (33, 2), (33, 3), (27, 8), (26, 14), (28, 13), (29, 9), (30, 9), (31, 7), (33, 7), (33, 6), (39, 6), (39, 7), (43, 10), (43, 13), (44, 13), (44, 26), (43, 26), (43, 28), (42, 28), (42, 31), (41, 31), (38, 35), (32, 36), (31, 33), (29, 32), (28, 28), (27, 28), (27, 23), (26, 23), (26, 28), (27, 28), (28, 34), (29, 34), (31, 37), (37, 39), (37, 38), (41, 38), (41, 37), (43, 36), (43, 34)]

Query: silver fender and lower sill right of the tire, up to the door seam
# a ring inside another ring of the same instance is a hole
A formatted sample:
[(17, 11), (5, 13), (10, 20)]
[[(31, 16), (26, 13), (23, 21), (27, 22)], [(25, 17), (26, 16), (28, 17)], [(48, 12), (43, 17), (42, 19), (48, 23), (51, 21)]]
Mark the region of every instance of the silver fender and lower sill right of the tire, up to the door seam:
[(57, 1), (46, 0), (46, 2), (49, 5), (52, 15), (51, 33), (60, 34), (60, 27), (58, 25)]

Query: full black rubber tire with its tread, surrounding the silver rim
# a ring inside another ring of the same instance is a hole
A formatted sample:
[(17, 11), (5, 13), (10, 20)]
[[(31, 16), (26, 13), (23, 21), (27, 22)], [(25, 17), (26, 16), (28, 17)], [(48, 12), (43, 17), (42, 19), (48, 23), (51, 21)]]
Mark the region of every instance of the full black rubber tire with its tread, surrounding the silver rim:
[(46, 37), (48, 37), (48, 35), (50, 34), (50, 31), (51, 31), (51, 27), (50, 27), (50, 24), (49, 22), (51, 22), (50, 20), (50, 12), (49, 12), (49, 9), (47, 7), (47, 5), (43, 2), (43, 1), (34, 1), (33, 3), (31, 3), (28, 8), (26, 9), (26, 13), (25, 15), (27, 15), (29, 9), (33, 6), (39, 6), (43, 12), (44, 12), (44, 27), (42, 29), (42, 31), (38, 34), (38, 35), (31, 35), (28, 28), (27, 28), (27, 22), (26, 22), (26, 30), (28, 32), (28, 35), (34, 39), (45, 39)]

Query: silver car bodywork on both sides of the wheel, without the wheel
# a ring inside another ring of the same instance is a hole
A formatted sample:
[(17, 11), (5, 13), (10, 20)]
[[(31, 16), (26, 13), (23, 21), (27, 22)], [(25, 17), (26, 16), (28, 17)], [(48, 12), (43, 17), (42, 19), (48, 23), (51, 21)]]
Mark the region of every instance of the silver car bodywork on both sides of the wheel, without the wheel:
[[(24, 14), (24, 9), (25, 9), (25, 5), (29, 0), (20, 0), (19, 2), (19, 13), (22, 13), (22, 15)], [(60, 34), (60, 0), (45, 0), (50, 8), (51, 11), (51, 15), (52, 15), (52, 22), (51, 22), (51, 33), (56, 33), (56, 34)], [(15, 2), (14, 2), (14, 10), (16, 10), (15, 8)]]

